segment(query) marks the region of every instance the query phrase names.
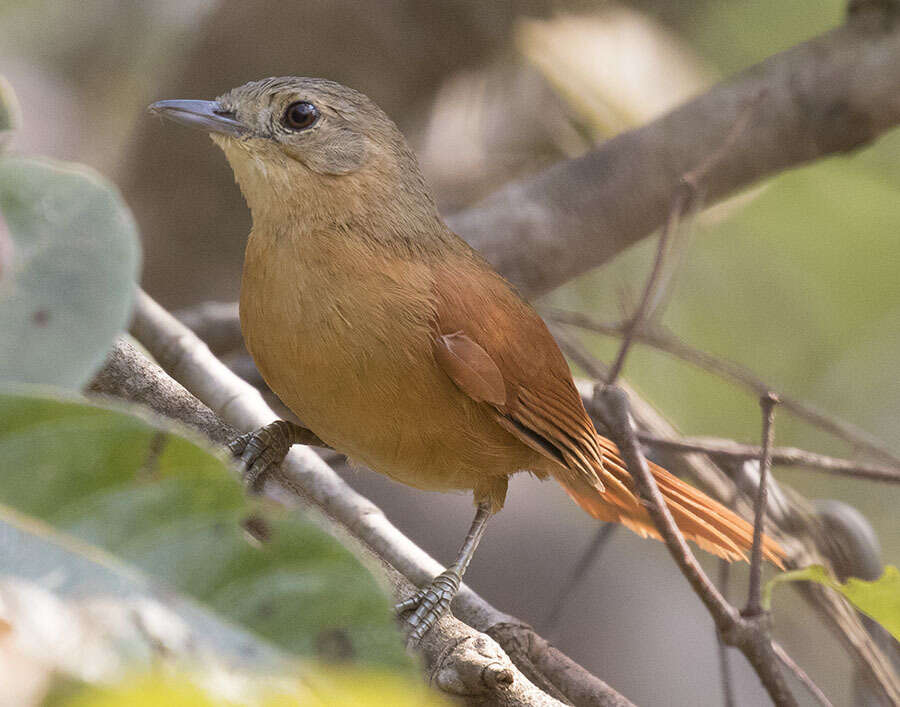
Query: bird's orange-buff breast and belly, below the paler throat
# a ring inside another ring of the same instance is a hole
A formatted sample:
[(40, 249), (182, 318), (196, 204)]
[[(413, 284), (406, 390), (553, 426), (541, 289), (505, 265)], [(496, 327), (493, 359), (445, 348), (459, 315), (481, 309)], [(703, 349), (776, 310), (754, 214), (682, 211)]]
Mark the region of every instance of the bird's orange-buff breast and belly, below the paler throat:
[(251, 237), (241, 288), (247, 347), (306, 426), (419, 488), (471, 489), (533, 468), (535, 455), (435, 363), (427, 265), (345, 253), (336, 269), (310, 246)]

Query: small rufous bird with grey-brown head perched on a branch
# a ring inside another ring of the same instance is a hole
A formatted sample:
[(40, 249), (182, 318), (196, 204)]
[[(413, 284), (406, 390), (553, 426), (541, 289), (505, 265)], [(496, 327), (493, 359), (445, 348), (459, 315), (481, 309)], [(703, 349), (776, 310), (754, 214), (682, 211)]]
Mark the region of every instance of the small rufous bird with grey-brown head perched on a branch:
[[(276, 77), (150, 111), (206, 131), (225, 153), (253, 223), (243, 337), (303, 423), (276, 421), (232, 451), (263, 473), (294, 443), (330, 446), (401, 483), (473, 494), (453, 564), (397, 606), (410, 640), (449, 609), (515, 473), (552, 477), (594, 518), (660, 537), (545, 323), (444, 223), (406, 139), (370, 98)], [(650, 468), (685, 537), (746, 559), (749, 523)], [(780, 566), (782, 548), (763, 538)]]

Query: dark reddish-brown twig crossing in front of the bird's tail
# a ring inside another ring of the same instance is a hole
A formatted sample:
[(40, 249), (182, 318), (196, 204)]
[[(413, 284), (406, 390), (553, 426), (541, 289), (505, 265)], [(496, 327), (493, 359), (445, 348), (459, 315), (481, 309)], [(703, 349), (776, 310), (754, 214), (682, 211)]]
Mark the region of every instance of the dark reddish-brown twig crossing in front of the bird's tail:
[(625, 466), (631, 473), (638, 492), (648, 501), (647, 510), (656, 529), (682, 574), (706, 606), (722, 638), (729, 645), (738, 647), (747, 657), (776, 705), (796, 706), (797, 701), (778, 667), (767, 622), (760, 620), (760, 617), (744, 618), (728, 603), (706, 576), (675, 524), (641, 452), (627, 397), (616, 386), (598, 386), (596, 395), (606, 411), (610, 433), (619, 447)]

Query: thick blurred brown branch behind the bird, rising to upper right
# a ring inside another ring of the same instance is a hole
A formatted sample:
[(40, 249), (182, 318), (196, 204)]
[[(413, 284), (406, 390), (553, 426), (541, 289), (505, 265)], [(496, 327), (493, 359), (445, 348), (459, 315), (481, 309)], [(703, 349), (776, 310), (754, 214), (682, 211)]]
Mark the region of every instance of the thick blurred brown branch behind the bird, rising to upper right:
[[(660, 228), (682, 175), (708, 167), (714, 203), (784, 169), (853, 150), (900, 122), (900, 23), (857, 13), (578, 159), (503, 187), (448, 219), (529, 297), (611, 260)], [(514, 247), (513, 247), (514, 245)]]

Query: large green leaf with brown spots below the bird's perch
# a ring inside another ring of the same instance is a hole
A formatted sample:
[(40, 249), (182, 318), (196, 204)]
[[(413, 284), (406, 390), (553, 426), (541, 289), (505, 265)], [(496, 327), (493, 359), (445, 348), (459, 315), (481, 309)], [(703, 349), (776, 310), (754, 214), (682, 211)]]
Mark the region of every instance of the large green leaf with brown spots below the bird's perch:
[(0, 460), (0, 502), (279, 647), (411, 666), (387, 597), (353, 555), (299, 514), (248, 499), (222, 459), (172, 428), (73, 400), (0, 395)]

